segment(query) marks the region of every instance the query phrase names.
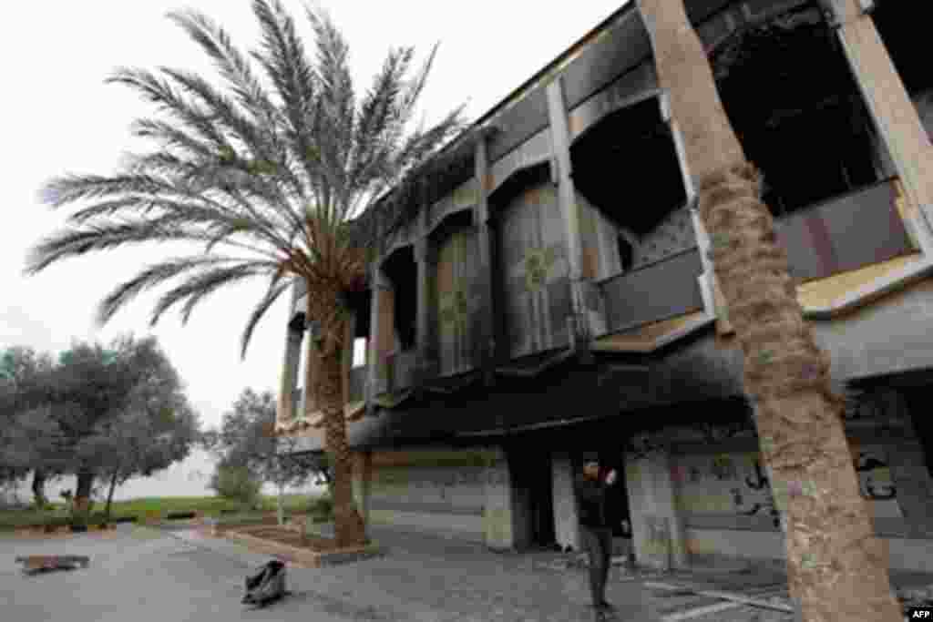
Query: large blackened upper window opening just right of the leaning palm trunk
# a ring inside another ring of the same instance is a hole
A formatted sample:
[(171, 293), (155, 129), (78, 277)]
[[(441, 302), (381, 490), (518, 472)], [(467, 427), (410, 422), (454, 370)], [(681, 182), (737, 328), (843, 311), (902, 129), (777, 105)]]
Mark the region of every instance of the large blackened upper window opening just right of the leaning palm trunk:
[(717, 89), (773, 214), (873, 185), (886, 171), (835, 33), (815, 8), (745, 30), (712, 54)]

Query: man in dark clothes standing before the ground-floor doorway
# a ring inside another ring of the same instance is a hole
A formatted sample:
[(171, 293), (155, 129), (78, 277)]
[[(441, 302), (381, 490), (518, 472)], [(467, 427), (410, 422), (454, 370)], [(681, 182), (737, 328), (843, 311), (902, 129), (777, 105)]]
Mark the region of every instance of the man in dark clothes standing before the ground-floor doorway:
[(603, 477), (599, 456), (589, 453), (583, 458), (583, 473), (576, 478), (578, 517), (583, 545), (590, 554), (590, 592), (597, 612), (612, 611), (606, 601), (606, 580), (612, 560), (612, 528), (606, 520), (606, 488), (616, 483), (613, 469)]

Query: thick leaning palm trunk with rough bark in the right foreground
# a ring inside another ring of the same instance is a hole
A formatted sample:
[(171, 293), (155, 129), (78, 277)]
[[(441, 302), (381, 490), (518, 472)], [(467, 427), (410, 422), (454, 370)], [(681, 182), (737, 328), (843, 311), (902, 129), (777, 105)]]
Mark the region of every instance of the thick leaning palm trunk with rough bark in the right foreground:
[(732, 131), (683, 0), (638, 5), (744, 352), (745, 393), (785, 512), (791, 594), (807, 622), (900, 620), (886, 550), (859, 494), (840, 401), (830, 389), (829, 359), (803, 319), (758, 173)]

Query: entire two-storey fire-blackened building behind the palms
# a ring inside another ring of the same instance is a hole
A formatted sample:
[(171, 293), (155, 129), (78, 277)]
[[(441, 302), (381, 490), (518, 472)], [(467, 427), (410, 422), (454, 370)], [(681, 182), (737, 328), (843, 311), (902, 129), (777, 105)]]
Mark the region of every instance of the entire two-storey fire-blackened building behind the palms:
[[(929, 572), (933, 75), (918, 8), (849, 4), (687, 0), (848, 396), (875, 530), (893, 567)], [(347, 358), (346, 414), (369, 523), (577, 547), (572, 474), (596, 450), (625, 476), (610, 510), (639, 561), (784, 556), (666, 97), (628, 3), (445, 150), (456, 166), (353, 301), (347, 343), (366, 356)], [(314, 456), (305, 296), (299, 283), (278, 426)]]

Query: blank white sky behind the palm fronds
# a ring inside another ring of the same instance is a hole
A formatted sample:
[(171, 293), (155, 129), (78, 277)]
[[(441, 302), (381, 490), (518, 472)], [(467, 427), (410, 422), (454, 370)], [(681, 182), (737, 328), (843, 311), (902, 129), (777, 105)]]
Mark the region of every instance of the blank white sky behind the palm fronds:
[[(300, 18), (311, 48), (299, 1), (284, 2)], [(391, 46), (415, 46), (420, 64), (440, 42), (421, 104), (430, 122), (465, 102), (466, 118), (480, 117), (624, 1), (587, 0), (570, 10), (530, 0), (322, 4), (349, 42), (358, 92), (369, 87)], [(146, 148), (128, 128), (134, 118), (152, 116), (153, 107), (132, 90), (104, 85), (104, 78), (119, 65), (216, 75), (201, 48), (165, 18), (185, 7), (218, 21), (241, 48), (258, 45), (248, 0), (18, 3), (0, 22), (6, 87), (0, 95), (0, 175), (7, 205), (0, 224), (0, 349), (28, 345), (57, 352), (72, 339), (149, 333), (149, 311), (161, 292), (138, 298), (102, 330), (93, 325), (94, 310), (116, 283), (173, 255), (171, 247), (72, 259), (32, 278), (22, 269), (27, 249), (61, 227), (66, 215), (36, 200), (45, 180), (68, 172), (115, 173), (123, 152)], [(187, 326), (172, 313), (152, 331), (186, 380), (205, 425), (216, 425), (244, 387), (274, 391), (278, 385), (287, 297), (259, 325), (245, 361), (239, 354), (246, 314), (263, 287), (255, 283), (217, 294), (194, 311)]]

